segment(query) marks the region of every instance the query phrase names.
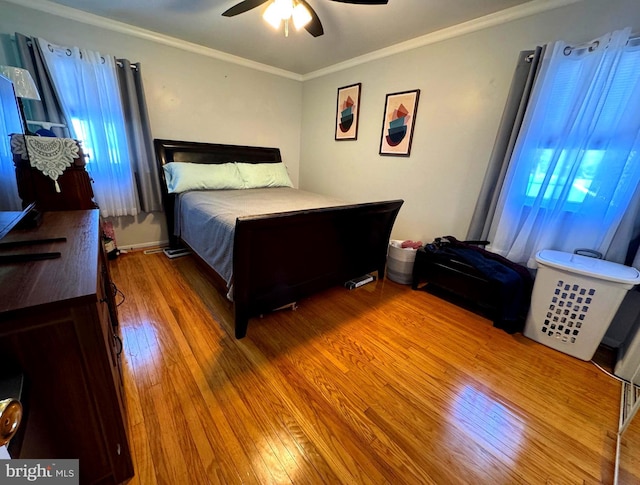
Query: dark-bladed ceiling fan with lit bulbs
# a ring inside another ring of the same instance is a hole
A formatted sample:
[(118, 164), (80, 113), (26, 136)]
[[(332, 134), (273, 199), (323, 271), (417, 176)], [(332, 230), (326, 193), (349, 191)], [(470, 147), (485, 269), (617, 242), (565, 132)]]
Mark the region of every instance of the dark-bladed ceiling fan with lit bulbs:
[[(234, 17), (241, 13), (248, 12), (249, 10), (259, 7), (260, 5), (267, 3), (272, 0), (243, 0), (242, 2), (234, 5), (230, 9), (226, 10), (222, 13), (224, 17)], [(352, 3), (355, 5), (386, 5), (389, 3), (389, 0), (330, 0), (332, 2), (339, 3)], [(322, 28), (322, 23), (318, 18), (318, 14), (316, 14), (315, 10), (311, 8), (311, 6), (306, 2), (306, 0), (289, 0), (287, 3), (290, 5), (289, 12), (287, 16), (280, 15), (279, 13), (275, 13), (276, 7), (278, 3), (282, 3), (281, 0), (273, 0), (273, 3), (269, 6), (267, 11), (265, 11), (264, 18), (272, 24), (275, 28), (278, 28), (280, 25), (280, 21), (285, 21), (285, 35), (289, 33), (289, 18), (293, 18), (294, 24), (299, 28), (304, 26), (305, 30), (309, 32), (314, 37), (319, 37), (324, 34), (324, 29)], [(299, 8), (302, 7), (302, 8)], [(296, 12), (298, 9), (298, 12)], [(271, 16), (270, 16), (271, 10)], [(306, 11), (306, 12), (305, 12)], [(299, 14), (298, 16), (297, 13)]]

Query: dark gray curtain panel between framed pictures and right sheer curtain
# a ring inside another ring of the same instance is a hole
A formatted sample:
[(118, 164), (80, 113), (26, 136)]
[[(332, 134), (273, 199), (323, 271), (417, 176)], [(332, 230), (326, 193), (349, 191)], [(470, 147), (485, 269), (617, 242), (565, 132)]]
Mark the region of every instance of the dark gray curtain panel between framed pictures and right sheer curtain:
[(486, 240), (489, 237), (489, 228), (493, 221), (500, 190), (522, 126), (543, 51), (543, 47), (537, 47), (535, 50), (522, 51), (518, 55), (509, 95), (489, 159), (489, 166), (471, 218), (467, 239)]

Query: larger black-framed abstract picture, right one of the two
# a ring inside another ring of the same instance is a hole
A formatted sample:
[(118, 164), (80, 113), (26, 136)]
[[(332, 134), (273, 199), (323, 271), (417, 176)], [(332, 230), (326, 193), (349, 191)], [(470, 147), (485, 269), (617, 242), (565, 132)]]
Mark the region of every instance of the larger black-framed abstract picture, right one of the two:
[(420, 90), (387, 94), (382, 119), (380, 155), (408, 157), (418, 113)]

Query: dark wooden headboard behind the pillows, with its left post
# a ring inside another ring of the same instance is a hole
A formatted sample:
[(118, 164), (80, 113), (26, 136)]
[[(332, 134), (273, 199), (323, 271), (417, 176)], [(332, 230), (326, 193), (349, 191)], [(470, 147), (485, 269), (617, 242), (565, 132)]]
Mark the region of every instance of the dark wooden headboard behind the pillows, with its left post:
[(153, 141), (160, 176), (162, 203), (167, 218), (167, 230), (171, 247), (178, 245), (173, 235), (175, 195), (167, 190), (167, 180), (162, 167), (171, 162), (218, 164), (228, 162), (279, 163), (282, 162), (279, 148), (250, 147), (242, 145), (222, 145), (193, 141), (162, 140)]

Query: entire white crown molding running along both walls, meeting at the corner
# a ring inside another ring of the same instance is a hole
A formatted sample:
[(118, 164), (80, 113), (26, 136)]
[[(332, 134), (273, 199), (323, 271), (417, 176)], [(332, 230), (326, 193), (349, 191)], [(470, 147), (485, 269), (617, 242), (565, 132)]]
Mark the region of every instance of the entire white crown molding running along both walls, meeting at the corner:
[(292, 79), (294, 81), (304, 82), (304, 81), (308, 81), (318, 77), (326, 76), (328, 74), (333, 74), (335, 72), (339, 72), (345, 69), (350, 69), (352, 67), (359, 66), (367, 62), (383, 59), (385, 57), (389, 57), (396, 54), (400, 54), (402, 52), (417, 49), (418, 47), (424, 47), (430, 44), (435, 44), (437, 42), (442, 42), (444, 40), (453, 39), (461, 35), (470, 34), (472, 32), (477, 32), (482, 29), (508, 23), (513, 20), (518, 20), (524, 17), (545, 12), (547, 10), (553, 10), (556, 8), (565, 7), (567, 5), (578, 3), (583, 0), (533, 0), (523, 5), (518, 5), (515, 7), (508, 8), (506, 10), (501, 10), (500, 12), (485, 15), (484, 17), (470, 20), (468, 22), (464, 22), (464, 23), (455, 25), (453, 27), (448, 27), (446, 29), (438, 30), (436, 32), (432, 32), (430, 34), (426, 34), (421, 37), (416, 37), (415, 39), (411, 39), (405, 42), (400, 42), (399, 44), (395, 44), (393, 46), (386, 47), (384, 49), (379, 49), (377, 51), (370, 52), (362, 56), (354, 57), (353, 59), (349, 59), (348, 61), (340, 62), (338, 64), (334, 64), (332, 66), (319, 69), (317, 71), (313, 71), (307, 74), (297, 74), (291, 71), (286, 71), (284, 69), (278, 69), (273, 66), (269, 66), (269, 65), (255, 62), (255, 61), (250, 61), (249, 59), (245, 59), (243, 57), (227, 54), (226, 52), (218, 51), (210, 47), (204, 47), (199, 44), (187, 42), (185, 40), (181, 40), (175, 37), (153, 32), (151, 30), (135, 27), (133, 25), (126, 24), (124, 22), (119, 22), (117, 20), (111, 20), (105, 17), (100, 17), (98, 15), (83, 12), (81, 10), (67, 7), (65, 5), (53, 3), (48, 0), (2, 0), (2, 1), (5, 1), (7, 3), (13, 3), (21, 7), (27, 7), (33, 10), (39, 10), (41, 12), (45, 12), (51, 15), (56, 15), (58, 17), (75, 20), (77, 22), (81, 22), (84, 24), (89, 24), (89, 25), (93, 25), (103, 29), (120, 32), (122, 34), (131, 35), (133, 37), (138, 37), (140, 39), (157, 42), (159, 44), (163, 44), (169, 47), (175, 47), (176, 49), (182, 49), (188, 52), (192, 52), (194, 54), (200, 54), (206, 57), (211, 57), (221, 61), (230, 62), (230, 63), (237, 64), (250, 69), (255, 69), (257, 71), (273, 74), (275, 76)]

